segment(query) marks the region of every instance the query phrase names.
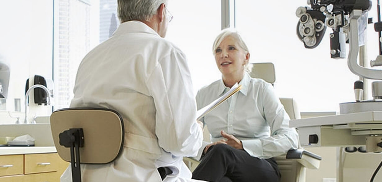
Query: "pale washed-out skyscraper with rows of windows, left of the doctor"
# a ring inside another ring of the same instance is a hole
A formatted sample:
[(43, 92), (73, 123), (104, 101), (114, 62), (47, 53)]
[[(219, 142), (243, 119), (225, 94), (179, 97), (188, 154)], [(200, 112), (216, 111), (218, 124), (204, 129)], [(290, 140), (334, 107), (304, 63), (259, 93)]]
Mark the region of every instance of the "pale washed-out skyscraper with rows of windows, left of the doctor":
[(69, 107), (79, 63), (90, 49), (90, 1), (56, 0), (55, 110)]

